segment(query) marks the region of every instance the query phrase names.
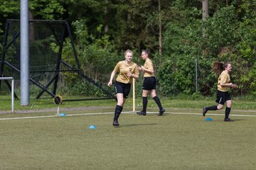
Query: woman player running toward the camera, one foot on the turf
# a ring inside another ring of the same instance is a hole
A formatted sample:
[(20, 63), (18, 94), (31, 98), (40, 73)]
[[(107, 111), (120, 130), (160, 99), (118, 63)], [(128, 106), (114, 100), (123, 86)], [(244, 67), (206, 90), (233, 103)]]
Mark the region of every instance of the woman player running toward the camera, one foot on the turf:
[(107, 84), (108, 86), (111, 86), (114, 75), (119, 72), (114, 84), (114, 90), (117, 94), (117, 106), (114, 110), (113, 121), (113, 126), (115, 127), (119, 126), (118, 118), (122, 112), (124, 102), (129, 95), (132, 78), (139, 79), (139, 69), (137, 64), (132, 62), (132, 55), (133, 52), (131, 50), (126, 50), (126, 52), (124, 52), (125, 60), (117, 63), (111, 73), (110, 81)]

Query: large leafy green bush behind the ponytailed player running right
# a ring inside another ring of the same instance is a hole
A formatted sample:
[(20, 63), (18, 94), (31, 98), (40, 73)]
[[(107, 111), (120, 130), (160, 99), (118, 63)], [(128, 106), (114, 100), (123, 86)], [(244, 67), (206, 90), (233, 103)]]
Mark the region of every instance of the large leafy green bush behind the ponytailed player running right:
[[(248, 12), (248, 11), (247, 11)], [(197, 11), (194, 11), (195, 15)], [(247, 13), (242, 13), (247, 16)], [(193, 16), (193, 15), (192, 15)], [(249, 15), (252, 20), (253, 15)], [(246, 19), (238, 21), (234, 6), (220, 8), (207, 21), (188, 17), (189, 22), (170, 22), (164, 34), (164, 62), (159, 71), (163, 94), (195, 93), (196, 59), (198, 91), (215, 94), (217, 76), (211, 71), (214, 61), (231, 62), (231, 79), (240, 88), (236, 94), (256, 92), (255, 29)], [(245, 17), (246, 18), (246, 17)]]

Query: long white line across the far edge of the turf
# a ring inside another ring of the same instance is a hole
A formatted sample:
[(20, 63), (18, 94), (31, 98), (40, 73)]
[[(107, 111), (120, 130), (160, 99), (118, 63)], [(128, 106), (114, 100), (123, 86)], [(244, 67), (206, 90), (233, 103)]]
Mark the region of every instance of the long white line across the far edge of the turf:
[[(123, 113), (135, 113), (135, 112), (123, 112)], [(149, 114), (156, 114), (158, 112), (147, 112)], [(80, 114), (70, 114), (65, 116), (75, 116), (75, 115), (103, 115), (103, 114), (114, 114), (113, 112), (103, 112), (103, 113), (80, 113)], [(165, 114), (176, 114), (176, 115), (202, 115), (202, 113), (182, 113), (182, 112), (166, 112)], [(221, 115), (223, 114), (215, 114), (208, 113), (207, 115)], [(256, 115), (233, 115), (232, 116), (240, 116), (240, 117), (256, 117)], [(53, 118), (53, 117), (63, 117), (60, 115), (41, 115), (41, 116), (28, 116), (28, 117), (20, 117), (20, 118), (0, 118), (0, 120), (19, 120), (19, 119), (33, 119), (33, 118)], [(207, 116), (206, 116), (207, 117)]]

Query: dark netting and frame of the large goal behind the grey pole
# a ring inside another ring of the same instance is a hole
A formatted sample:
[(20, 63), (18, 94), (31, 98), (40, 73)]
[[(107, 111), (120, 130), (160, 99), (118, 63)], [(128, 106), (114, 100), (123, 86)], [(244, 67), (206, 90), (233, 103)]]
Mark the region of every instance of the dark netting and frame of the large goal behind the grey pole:
[[(71, 52), (63, 55), (63, 44), (70, 43)], [(20, 21), (7, 20), (3, 55), (0, 60), (0, 77), (20, 80)], [(32, 86), (39, 88), (36, 98), (46, 92), (55, 97), (61, 78), (73, 72), (90, 84), (102, 89), (107, 96), (112, 93), (101, 84), (87, 77), (80, 70), (80, 63), (67, 21), (29, 21), (29, 77)]]

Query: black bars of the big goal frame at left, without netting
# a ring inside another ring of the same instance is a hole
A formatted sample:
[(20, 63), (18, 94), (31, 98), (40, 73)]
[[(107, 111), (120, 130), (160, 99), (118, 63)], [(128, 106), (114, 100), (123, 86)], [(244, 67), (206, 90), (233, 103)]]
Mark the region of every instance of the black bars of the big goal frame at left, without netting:
[[(14, 20), (14, 19), (9, 19), (6, 21), (6, 30), (5, 30), (5, 35), (4, 35), (4, 42), (3, 42), (3, 53), (0, 58), (0, 77), (5, 77), (9, 75), (5, 75), (6, 73), (4, 72), (4, 67), (9, 67), (11, 68), (14, 72), (20, 73), (20, 52), (19, 52), (19, 43), (18, 43), (18, 38), (20, 37), (20, 29), (18, 31), (15, 30), (14, 28), (14, 23), (20, 22), (20, 20)], [(104, 98), (86, 98), (86, 99), (67, 99), (63, 101), (81, 101), (81, 100), (102, 100), (102, 99), (114, 99), (115, 96), (112, 92), (108, 91), (105, 89), (102, 84), (97, 83), (90, 77), (88, 77), (81, 69), (80, 69), (80, 62), (78, 60), (78, 54), (75, 50), (75, 44), (73, 40), (73, 36), (70, 30), (70, 26), (68, 24), (68, 21), (49, 21), (49, 20), (29, 20), (29, 24), (31, 23), (47, 23), (47, 26), (49, 29), (52, 31), (52, 35), (55, 38), (57, 45), (58, 45), (58, 53), (57, 55), (57, 63), (55, 65), (55, 69), (52, 70), (36, 70), (36, 71), (29, 71), (29, 74), (32, 72), (51, 72), (53, 75), (51, 79), (46, 82), (46, 84), (41, 84), (38, 82), (36, 79), (33, 79), (33, 77), (29, 77), (29, 80), (38, 86), (41, 91), (39, 91), (38, 95), (36, 98), (41, 98), (43, 93), (49, 94), (52, 98), (55, 98), (56, 96), (56, 91), (57, 91), (57, 86), (58, 86), (58, 80), (59, 80), (59, 74), (61, 72), (74, 72), (75, 74), (78, 74), (82, 79), (85, 79), (86, 81), (90, 82), (93, 86), (96, 86), (98, 89), (101, 89), (104, 94), (107, 94), (107, 97)], [(61, 29), (61, 36), (60, 38), (57, 36), (56, 30), (53, 28), (54, 24), (58, 23), (59, 25), (62, 25)], [(10, 38), (11, 35), (11, 38)], [(65, 60), (63, 60), (62, 57), (62, 52), (63, 52), (63, 43), (65, 41), (65, 38), (70, 39), (70, 43), (72, 46), (73, 50), (73, 56), (75, 57), (75, 64), (69, 64)], [(18, 64), (13, 64), (9, 61), (6, 61), (6, 52), (8, 52), (9, 48), (12, 47), (12, 50), (14, 50), (14, 60), (18, 61)], [(63, 67), (60, 67), (60, 65), (63, 65)], [(53, 90), (50, 91), (49, 86), (53, 86)], [(0, 86), (1, 86), (1, 79), (0, 79)], [(16, 96), (16, 94), (14, 94)], [(17, 96), (16, 96), (17, 98)]]

